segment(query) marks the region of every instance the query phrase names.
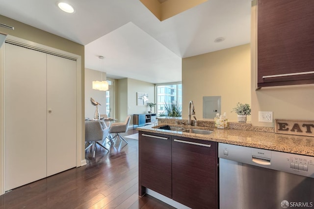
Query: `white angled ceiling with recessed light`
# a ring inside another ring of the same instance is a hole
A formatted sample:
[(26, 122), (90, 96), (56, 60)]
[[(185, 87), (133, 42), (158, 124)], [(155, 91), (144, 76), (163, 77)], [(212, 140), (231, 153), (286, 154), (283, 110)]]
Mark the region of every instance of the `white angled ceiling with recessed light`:
[(57, 0), (0, 0), (0, 14), (84, 45), (85, 68), (151, 83), (181, 81), (182, 58), (250, 43), (251, 0), (208, 0), (162, 22), (139, 0), (66, 2), (75, 13)]

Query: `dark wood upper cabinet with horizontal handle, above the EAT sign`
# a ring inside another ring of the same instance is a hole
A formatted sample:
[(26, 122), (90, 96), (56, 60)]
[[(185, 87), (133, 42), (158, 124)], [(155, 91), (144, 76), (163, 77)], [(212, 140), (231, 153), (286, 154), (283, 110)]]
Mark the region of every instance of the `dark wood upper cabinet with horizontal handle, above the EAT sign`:
[(314, 0), (258, 0), (258, 88), (314, 83)]

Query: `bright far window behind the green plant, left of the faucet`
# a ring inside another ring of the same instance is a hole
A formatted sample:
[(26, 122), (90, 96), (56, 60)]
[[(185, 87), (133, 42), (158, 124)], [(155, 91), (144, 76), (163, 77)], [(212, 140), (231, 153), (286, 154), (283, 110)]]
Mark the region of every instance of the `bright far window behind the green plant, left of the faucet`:
[(182, 110), (182, 83), (159, 84), (156, 88), (158, 116), (168, 115), (165, 111), (165, 103), (168, 105), (178, 103), (180, 109)]

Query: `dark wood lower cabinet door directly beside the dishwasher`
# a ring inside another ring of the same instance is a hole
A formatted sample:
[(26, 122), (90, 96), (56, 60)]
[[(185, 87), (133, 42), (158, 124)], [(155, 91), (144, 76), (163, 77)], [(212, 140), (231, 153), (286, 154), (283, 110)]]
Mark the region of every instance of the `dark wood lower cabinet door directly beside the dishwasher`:
[(172, 199), (190, 208), (218, 208), (217, 142), (172, 136)]

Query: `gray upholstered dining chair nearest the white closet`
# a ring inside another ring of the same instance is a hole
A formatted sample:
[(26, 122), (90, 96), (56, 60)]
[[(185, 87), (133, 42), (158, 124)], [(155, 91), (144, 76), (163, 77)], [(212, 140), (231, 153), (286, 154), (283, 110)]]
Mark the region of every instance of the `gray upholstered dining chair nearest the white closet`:
[(104, 145), (99, 143), (99, 141), (105, 140), (108, 133), (109, 127), (106, 127), (103, 122), (98, 120), (85, 121), (85, 150), (94, 145), (93, 158), (95, 158), (96, 155), (96, 144), (109, 151)]

